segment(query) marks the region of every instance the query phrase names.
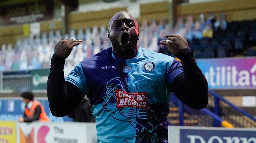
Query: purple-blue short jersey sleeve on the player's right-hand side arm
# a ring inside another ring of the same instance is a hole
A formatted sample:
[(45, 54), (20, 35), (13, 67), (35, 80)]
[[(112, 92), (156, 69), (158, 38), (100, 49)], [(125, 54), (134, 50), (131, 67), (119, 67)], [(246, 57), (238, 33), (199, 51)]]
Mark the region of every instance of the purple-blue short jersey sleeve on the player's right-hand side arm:
[(183, 72), (182, 64), (180, 61), (174, 59), (172, 65), (169, 67), (167, 71), (167, 85), (171, 85), (174, 78)]

